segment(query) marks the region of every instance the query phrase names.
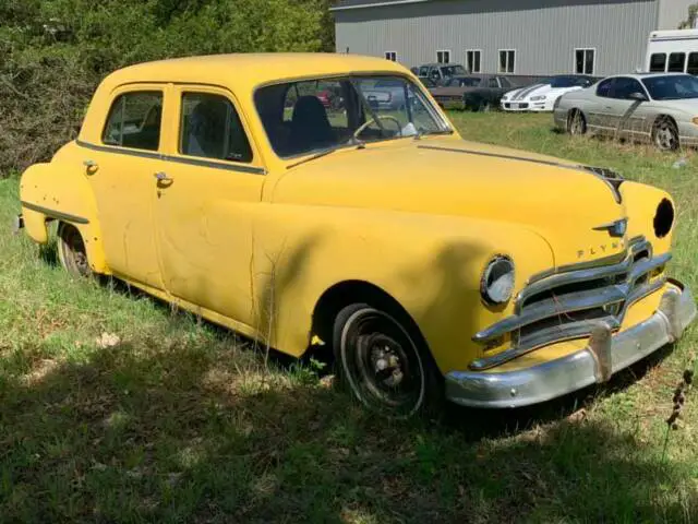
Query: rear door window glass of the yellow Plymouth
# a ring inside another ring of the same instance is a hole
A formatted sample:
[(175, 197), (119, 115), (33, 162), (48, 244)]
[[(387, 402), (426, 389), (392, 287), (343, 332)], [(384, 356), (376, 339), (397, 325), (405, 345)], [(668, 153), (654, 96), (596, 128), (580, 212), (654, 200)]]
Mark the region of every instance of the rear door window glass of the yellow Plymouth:
[(157, 151), (161, 119), (161, 92), (124, 93), (117, 97), (109, 109), (101, 141), (108, 145)]

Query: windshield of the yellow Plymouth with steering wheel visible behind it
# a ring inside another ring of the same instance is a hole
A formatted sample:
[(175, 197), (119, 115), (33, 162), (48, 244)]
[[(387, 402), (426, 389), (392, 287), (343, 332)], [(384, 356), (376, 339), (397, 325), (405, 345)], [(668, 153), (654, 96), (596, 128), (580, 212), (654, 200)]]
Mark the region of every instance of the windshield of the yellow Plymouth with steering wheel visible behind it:
[(384, 140), (450, 132), (404, 76), (304, 80), (256, 91), (256, 109), (282, 158)]

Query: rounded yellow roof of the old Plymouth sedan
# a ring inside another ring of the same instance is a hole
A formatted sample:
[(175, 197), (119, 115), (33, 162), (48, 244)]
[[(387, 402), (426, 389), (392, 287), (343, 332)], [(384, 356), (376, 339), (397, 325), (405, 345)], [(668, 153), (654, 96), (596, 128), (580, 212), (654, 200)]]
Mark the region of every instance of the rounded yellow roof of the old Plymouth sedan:
[(332, 76), (349, 72), (411, 74), (399, 63), (360, 55), (237, 53), (140, 63), (115, 71), (105, 79), (104, 84), (116, 88), (134, 82), (208, 83), (252, 91), (257, 85), (284, 80)]

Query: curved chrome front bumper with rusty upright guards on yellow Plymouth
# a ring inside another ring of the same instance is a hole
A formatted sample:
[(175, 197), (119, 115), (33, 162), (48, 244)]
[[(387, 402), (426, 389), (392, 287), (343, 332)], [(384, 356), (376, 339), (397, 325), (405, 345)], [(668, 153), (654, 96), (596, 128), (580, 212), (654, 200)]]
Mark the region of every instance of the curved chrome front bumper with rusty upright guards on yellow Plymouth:
[(507, 372), (454, 371), (446, 376), (446, 397), (469, 407), (520, 407), (550, 401), (609, 378), (683, 334), (696, 317), (687, 288), (669, 289), (649, 319), (612, 335), (600, 322), (589, 345), (557, 360)]

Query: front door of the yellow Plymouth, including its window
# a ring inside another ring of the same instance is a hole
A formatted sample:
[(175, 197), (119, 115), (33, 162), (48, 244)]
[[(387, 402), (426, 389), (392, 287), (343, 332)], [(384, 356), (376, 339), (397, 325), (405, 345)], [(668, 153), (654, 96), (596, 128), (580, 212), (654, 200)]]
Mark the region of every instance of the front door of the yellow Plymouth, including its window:
[(253, 325), (252, 243), (265, 170), (239, 105), (219, 87), (178, 85), (179, 118), (156, 187), (155, 224), (166, 289)]

